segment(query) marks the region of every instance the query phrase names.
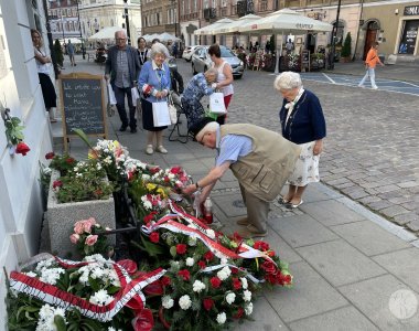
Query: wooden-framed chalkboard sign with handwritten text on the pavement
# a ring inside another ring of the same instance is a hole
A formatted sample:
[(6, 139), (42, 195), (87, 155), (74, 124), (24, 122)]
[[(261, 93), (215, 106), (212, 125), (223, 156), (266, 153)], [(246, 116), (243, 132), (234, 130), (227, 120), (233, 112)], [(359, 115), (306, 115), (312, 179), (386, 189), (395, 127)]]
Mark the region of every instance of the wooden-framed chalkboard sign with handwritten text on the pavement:
[(107, 138), (103, 76), (72, 73), (60, 76), (64, 146), (67, 150), (73, 129), (87, 136)]

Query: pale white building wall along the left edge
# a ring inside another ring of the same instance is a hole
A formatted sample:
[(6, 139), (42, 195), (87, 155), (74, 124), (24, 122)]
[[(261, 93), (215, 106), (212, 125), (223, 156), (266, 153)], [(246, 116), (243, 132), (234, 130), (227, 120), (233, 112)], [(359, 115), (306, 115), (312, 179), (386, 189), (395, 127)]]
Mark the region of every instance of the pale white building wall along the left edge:
[[(50, 121), (39, 84), (30, 29), (34, 14), (45, 26), (42, 0), (0, 0), (0, 108), (8, 107), (19, 117), (24, 141), (31, 148), (25, 156), (9, 154), (4, 122), (0, 118), (0, 266), (10, 273), (19, 263), (37, 253), (42, 223), (40, 162), (52, 150)], [(43, 32), (46, 41), (45, 31)], [(47, 42), (46, 42), (46, 52)], [(53, 76), (53, 73), (51, 73)], [(0, 300), (4, 302), (6, 281), (0, 273)], [(0, 330), (7, 321), (0, 305)]]

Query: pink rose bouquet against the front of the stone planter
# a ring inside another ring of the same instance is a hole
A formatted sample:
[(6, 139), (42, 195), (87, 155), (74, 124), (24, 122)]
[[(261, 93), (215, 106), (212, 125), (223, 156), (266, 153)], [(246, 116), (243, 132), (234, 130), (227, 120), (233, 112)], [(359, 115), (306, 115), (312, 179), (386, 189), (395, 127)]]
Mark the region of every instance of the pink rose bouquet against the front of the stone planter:
[(108, 245), (106, 236), (101, 234), (105, 231), (110, 231), (110, 228), (104, 228), (94, 217), (90, 217), (74, 224), (74, 233), (69, 236), (69, 239), (77, 245), (77, 250), (82, 256), (110, 254), (111, 257), (112, 247)]

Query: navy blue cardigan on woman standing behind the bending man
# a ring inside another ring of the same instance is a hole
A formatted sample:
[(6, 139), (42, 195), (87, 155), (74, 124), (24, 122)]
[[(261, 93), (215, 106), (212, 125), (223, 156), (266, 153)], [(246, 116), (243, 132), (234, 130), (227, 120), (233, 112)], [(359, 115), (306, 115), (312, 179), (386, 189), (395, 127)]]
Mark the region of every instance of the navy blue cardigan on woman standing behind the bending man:
[(283, 138), (294, 143), (305, 143), (322, 139), (326, 136), (326, 124), (319, 98), (310, 90), (304, 90), (297, 102), (286, 125), (288, 109), (283, 99), (279, 119)]

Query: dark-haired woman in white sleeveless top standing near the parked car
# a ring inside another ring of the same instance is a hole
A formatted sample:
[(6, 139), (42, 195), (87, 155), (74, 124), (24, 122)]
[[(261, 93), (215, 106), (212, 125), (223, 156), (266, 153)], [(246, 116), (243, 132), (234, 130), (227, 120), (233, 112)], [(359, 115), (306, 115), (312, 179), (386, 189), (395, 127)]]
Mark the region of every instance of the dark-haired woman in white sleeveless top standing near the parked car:
[[(217, 89), (221, 89), (224, 95), (224, 105), (226, 110), (228, 108), (229, 103), (232, 102), (234, 88), (233, 88), (233, 70), (232, 66), (223, 60), (222, 50), (218, 44), (214, 44), (210, 46), (208, 54), (211, 60), (213, 61), (213, 67), (217, 70)], [(224, 125), (227, 115), (218, 116), (217, 122), (219, 125)]]

